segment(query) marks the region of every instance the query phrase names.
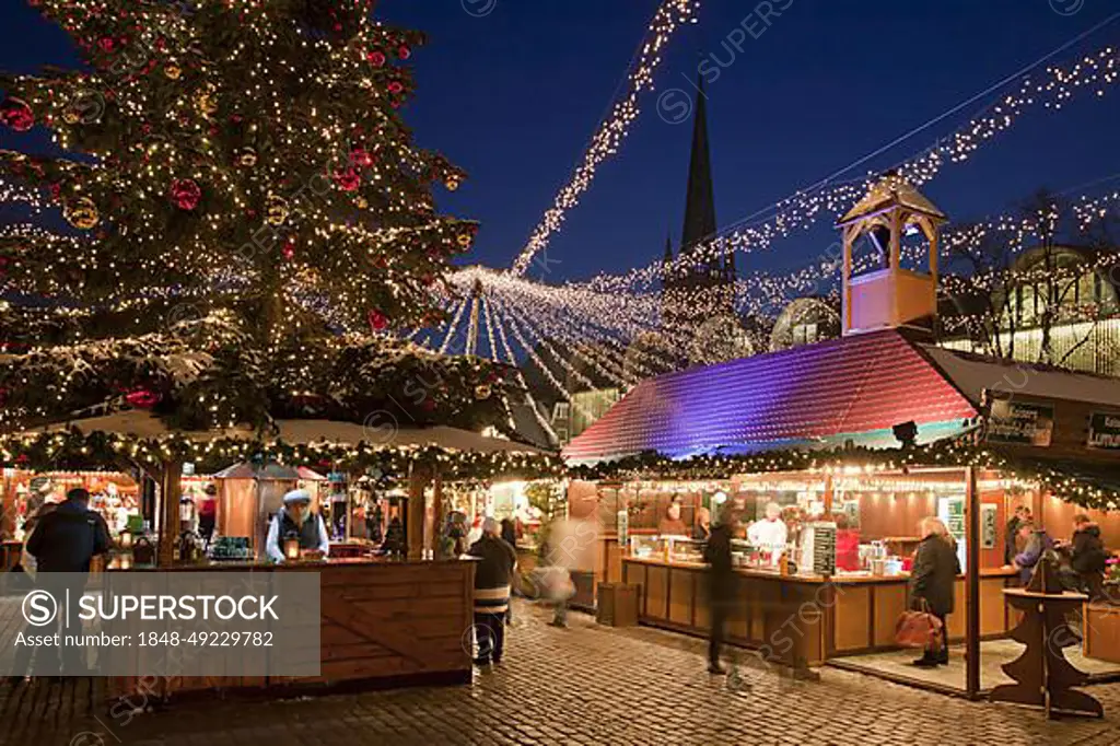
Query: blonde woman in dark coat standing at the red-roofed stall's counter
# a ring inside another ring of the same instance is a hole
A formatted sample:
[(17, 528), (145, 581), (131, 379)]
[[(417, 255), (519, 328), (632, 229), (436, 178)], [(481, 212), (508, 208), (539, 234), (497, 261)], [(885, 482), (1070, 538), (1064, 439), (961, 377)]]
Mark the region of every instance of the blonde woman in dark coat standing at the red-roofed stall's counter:
[(940, 650), (927, 647), (914, 665), (933, 668), (949, 663), (949, 633), (945, 617), (953, 613), (953, 586), (961, 571), (956, 548), (940, 519), (923, 519), (920, 524), (922, 543), (917, 545), (911, 570), (911, 607), (928, 610), (941, 619)]

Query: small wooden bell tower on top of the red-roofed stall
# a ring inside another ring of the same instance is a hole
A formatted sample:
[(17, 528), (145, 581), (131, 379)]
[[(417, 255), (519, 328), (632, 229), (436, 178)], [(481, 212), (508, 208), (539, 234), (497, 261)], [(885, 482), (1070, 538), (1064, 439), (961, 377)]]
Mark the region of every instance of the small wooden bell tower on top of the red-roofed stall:
[[(937, 251), (946, 222), (932, 202), (897, 174), (888, 172), (837, 227), (843, 234), (844, 335), (913, 327), (932, 332), (937, 315)], [(926, 240), (928, 272), (904, 269), (903, 236), (921, 232)], [(862, 237), (877, 251), (870, 268), (857, 268), (852, 252)]]

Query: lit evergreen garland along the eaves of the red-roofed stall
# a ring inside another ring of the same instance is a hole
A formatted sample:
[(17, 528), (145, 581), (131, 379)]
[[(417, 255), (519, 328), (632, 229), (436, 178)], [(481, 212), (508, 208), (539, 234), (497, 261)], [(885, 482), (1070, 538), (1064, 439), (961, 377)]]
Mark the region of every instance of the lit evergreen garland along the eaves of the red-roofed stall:
[(875, 470), (909, 467), (974, 466), (1014, 475), (1052, 491), (1062, 500), (1096, 510), (1120, 509), (1120, 478), (1099, 483), (1048, 466), (1037, 459), (1023, 459), (977, 445), (969, 438), (940, 440), (920, 448), (837, 448), (832, 450), (775, 450), (743, 456), (693, 456), (672, 459), (653, 451), (613, 461), (569, 467), (575, 479), (590, 482), (628, 479), (726, 479), (735, 474), (778, 472), (836, 472), (869, 468)]

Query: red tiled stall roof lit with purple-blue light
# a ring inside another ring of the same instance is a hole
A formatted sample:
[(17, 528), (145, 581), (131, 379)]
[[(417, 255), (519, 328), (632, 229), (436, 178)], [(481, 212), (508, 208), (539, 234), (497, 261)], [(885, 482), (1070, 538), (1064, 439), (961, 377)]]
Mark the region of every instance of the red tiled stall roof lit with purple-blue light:
[(902, 334), (888, 329), (643, 381), (563, 450), (594, 463), (655, 450), (671, 457), (897, 445), (955, 435), (976, 407)]

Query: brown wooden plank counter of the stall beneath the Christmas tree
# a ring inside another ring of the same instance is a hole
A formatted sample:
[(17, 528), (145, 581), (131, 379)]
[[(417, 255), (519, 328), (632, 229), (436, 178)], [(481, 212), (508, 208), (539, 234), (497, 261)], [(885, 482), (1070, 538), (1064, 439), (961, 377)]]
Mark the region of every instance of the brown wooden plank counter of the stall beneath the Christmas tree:
[[(110, 570), (105, 581), (111, 585), (113, 577), (136, 571), (149, 570)], [(286, 697), (306, 689), (470, 681), (470, 654), (463, 637), (474, 622), (475, 560), (221, 562), (150, 571), (318, 572), (320, 576), (318, 677), (161, 678), (157, 696), (223, 690)], [(140, 678), (113, 678), (109, 680), (109, 693), (112, 699), (129, 697), (142, 686)]]

